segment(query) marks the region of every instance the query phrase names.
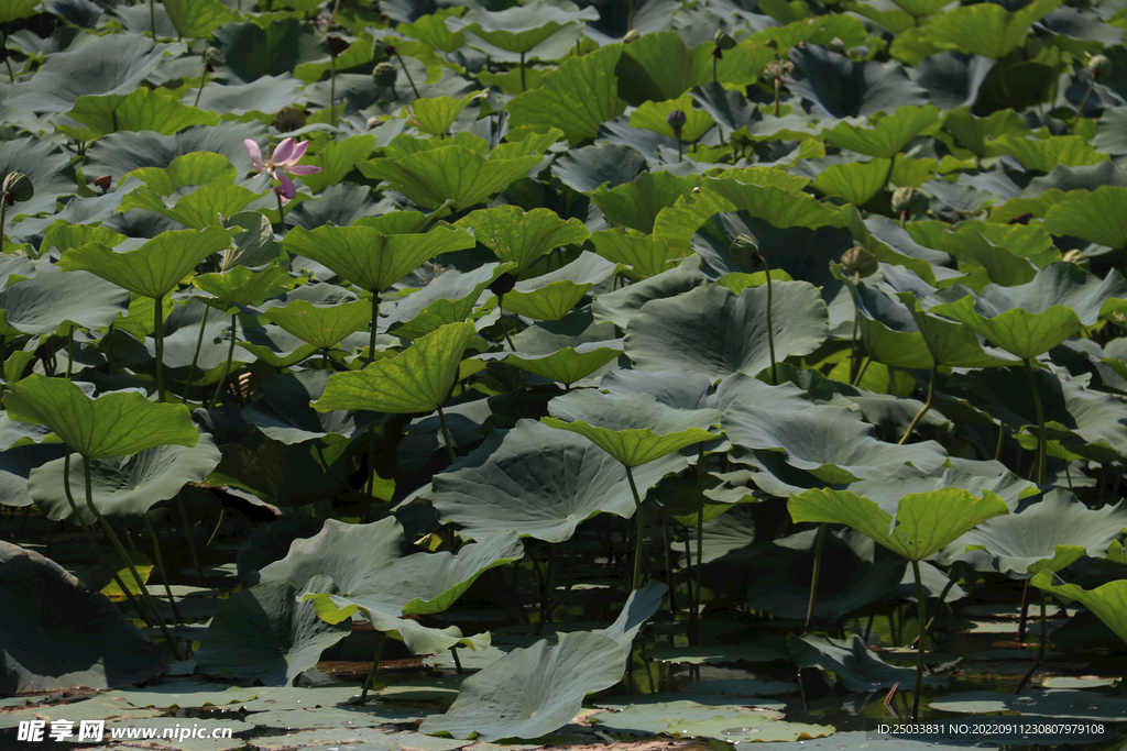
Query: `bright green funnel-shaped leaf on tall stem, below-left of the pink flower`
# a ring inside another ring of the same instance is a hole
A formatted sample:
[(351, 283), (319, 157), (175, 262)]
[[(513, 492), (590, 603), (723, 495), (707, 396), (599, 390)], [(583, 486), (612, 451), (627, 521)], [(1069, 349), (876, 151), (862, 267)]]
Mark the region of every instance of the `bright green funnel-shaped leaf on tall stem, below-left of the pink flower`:
[(92, 242), (63, 253), (63, 271), (90, 271), (132, 293), (159, 298), (204, 259), (227, 248), (236, 230), (210, 226), (203, 231), (163, 232), (135, 250), (117, 253)]

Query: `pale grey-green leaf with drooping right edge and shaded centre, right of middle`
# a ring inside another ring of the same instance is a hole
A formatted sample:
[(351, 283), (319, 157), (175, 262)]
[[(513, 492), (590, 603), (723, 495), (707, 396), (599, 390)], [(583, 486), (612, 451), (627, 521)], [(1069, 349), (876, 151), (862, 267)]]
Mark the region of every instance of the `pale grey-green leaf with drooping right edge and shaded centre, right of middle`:
[(725, 413), (724, 431), (737, 447), (781, 452), (791, 466), (831, 484), (889, 477), (905, 464), (931, 472), (947, 458), (935, 441), (896, 446), (879, 440), (873, 426), (828, 404), (780, 413), (736, 403)]

